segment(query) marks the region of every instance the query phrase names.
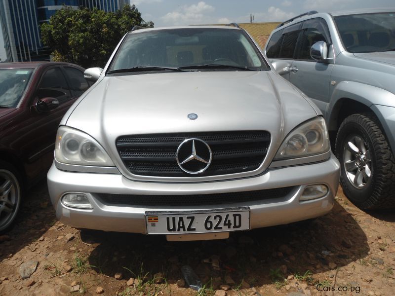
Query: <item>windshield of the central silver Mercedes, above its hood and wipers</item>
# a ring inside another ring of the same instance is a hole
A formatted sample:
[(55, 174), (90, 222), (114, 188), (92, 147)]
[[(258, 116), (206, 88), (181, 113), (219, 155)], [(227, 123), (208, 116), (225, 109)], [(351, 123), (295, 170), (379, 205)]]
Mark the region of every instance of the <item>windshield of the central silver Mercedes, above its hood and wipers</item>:
[[(242, 30), (188, 28), (129, 34), (122, 42), (109, 71), (136, 67), (188, 68), (212, 64), (252, 68), (255, 71), (269, 70), (255, 45)], [(213, 67), (208, 68), (213, 70)]]

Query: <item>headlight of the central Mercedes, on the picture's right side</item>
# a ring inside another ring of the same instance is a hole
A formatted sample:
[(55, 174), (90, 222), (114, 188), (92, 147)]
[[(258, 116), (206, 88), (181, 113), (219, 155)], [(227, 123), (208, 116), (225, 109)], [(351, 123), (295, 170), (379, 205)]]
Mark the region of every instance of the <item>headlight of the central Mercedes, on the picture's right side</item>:
[(328, 150), (329, 136), (325, 120), (318, 117), (290, 132), (278, 149), (276, 159), (310, 156)]

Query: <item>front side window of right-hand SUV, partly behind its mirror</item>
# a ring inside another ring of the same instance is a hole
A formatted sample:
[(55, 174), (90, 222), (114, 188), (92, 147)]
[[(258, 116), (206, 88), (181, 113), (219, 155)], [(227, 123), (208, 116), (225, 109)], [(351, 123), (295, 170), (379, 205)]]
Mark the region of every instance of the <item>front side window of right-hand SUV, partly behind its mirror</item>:
[(315, 61), (310, 56), (310, 48), (318, 41), (327, 42), (325, 37), (327, 34), (326, 24), (322, 19), (311, 19), (304, 22), (297, 59)]

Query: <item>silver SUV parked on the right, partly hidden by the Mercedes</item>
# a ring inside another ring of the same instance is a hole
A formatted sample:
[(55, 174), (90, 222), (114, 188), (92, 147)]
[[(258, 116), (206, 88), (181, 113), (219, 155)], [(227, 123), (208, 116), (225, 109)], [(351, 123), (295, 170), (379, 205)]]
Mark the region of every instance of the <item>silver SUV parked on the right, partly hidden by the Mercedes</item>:
[(346, 196), (394, 207), (395, 9), (310, 11), (280, 24), (266, 55), (324, 114)]

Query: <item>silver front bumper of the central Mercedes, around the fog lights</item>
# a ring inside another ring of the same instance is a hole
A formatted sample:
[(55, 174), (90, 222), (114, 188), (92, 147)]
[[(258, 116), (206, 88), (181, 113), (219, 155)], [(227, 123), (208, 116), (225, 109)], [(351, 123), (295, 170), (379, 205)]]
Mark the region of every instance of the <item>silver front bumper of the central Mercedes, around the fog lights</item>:
[[(105, 231), (146, 234), (146, 211), (220, 210), (249, 207), (250, 227), (287, 224), (316, 218), (328, 213), (334, 203), (340, 176), (340, 164), (331, 154), (326, 161), (292, 167), (268, 169), (264, 174), (245, 179), (206, 183), (151, 183), (136, 182), (119, 174), (95, 174), (61, 171), (53, 164), (48, 172), (48, 190), (56, 217), (63, 223), (77, 227)], [(325, 184), (328, 193), (320, 198), (299, 201), (307, 185)], [(262, 190), (295, 186), (283, 198), (210, 206), (164, 207), (121, 206), (104, 204), (98, 193), (109, 194), (210, 194)], [(66, 192), (84, 192), (93, 209), (66, 207), (61, 197)]]

